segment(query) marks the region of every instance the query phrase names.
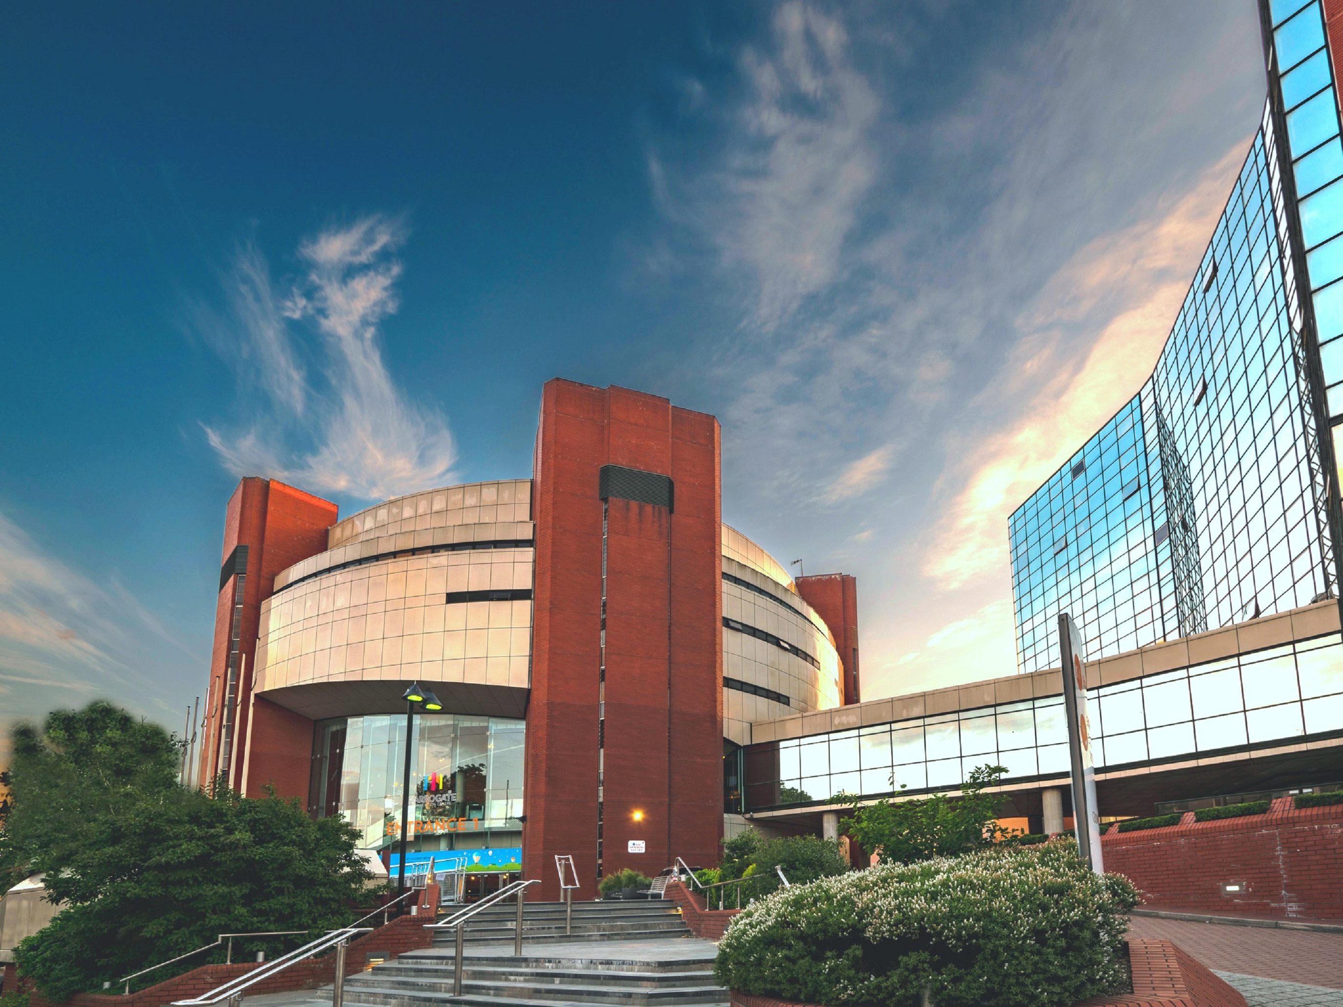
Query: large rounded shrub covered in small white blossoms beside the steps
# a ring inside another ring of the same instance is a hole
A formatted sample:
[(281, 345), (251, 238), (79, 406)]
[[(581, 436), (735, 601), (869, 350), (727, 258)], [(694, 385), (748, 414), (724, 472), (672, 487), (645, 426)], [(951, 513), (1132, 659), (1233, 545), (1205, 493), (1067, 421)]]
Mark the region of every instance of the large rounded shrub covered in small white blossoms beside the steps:
[(904, 1007), (1064, 1007), (1124, 987), (1136, 889), (1070, 839), (881, 863), (796, 885), (737, 916), (725, 987), (784, 1000)]

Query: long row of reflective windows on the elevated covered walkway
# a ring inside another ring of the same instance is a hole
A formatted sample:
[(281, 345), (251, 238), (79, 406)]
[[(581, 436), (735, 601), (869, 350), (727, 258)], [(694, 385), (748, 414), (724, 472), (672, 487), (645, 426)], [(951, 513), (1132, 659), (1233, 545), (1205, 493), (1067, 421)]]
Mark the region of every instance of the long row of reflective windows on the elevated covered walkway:
[[(1339, 634), (1088, 690), (1097, 767), (1242, 752), (1343, 730)], [(959, 785), (979, 765), (1007, 783), (1069, 772), (1064, 698), (1050, 696), (748, 745), (747, 811)]]

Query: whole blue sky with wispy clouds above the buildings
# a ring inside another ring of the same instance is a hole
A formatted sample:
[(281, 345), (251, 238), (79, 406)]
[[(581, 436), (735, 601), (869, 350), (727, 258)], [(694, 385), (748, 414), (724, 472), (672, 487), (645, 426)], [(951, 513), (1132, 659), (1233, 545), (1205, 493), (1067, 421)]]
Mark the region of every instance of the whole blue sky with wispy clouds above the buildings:
[(1252, 0), (39, 4), (0, 36), (0, 721), (204, 687), (239, 473), (525, 475), (552, 376), (723, 422), (865, 696), (1014, 670), (1006, 518), (1136, 389)]

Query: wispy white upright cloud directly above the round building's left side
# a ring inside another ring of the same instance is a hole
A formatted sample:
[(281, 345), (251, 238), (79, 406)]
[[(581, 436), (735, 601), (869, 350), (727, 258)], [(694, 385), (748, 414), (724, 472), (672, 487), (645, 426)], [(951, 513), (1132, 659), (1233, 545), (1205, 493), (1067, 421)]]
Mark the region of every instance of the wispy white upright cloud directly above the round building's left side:
[[(446, 418), (411, 401), (383, 360), (380, 325), (398, 309), (404, 236), (383, 216), (328, 228), (299, 246), (305, 275), (282, 294), (259, 252), (239, 252), (231, 311), (211, 342), (269, 405), (240, 430), (205, 426), (230, 471), (359, 499), (449, 479), (457, 451)], [(305, 354), (320, 377), (301, 365)]]

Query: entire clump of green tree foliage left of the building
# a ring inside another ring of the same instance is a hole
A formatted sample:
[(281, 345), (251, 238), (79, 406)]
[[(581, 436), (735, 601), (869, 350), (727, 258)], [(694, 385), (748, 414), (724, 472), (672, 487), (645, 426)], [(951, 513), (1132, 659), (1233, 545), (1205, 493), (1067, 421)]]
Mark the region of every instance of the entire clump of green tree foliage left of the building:
[[(107, 704), (52, 714), (43, 734), (26, 728), (15, 741), (5, 855), (13, 869), (46, 871), (48, 897), (62, 905), (15, 959), (48, 999), (98, 990), (220, 933), (346, 924), (372, 878), (342, 819), (313, 820), (274, 795), (183, 789), (172, 740)], [(279, 947), (239, 941), (235, 955)], [(137, 986), (212, 960), (223, 952)]]

